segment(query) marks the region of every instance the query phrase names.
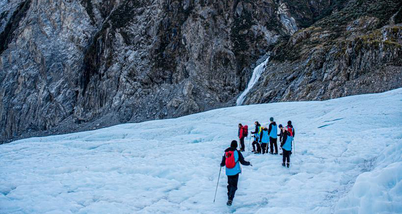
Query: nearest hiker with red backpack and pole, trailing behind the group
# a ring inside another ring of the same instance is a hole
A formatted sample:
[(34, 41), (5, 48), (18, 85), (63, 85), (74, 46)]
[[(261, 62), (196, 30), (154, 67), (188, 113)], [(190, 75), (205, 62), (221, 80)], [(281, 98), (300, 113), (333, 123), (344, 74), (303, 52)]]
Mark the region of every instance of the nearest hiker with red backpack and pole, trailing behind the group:
[(225, 150), (225, 155), (222, 157), (222, 162), (220, 162), (221, 167), (226, 166), (226, 175), (228, 176), (228, 202), (226, 203), (228, 206), (232, 205), (237, 190), (239, 173), (241, 173), (239, 162), (245, 166), (251, 165), (250, 162), (244, 160), (241, 152), (237, 150), (237, 141), (233, 140), (230, 147)]

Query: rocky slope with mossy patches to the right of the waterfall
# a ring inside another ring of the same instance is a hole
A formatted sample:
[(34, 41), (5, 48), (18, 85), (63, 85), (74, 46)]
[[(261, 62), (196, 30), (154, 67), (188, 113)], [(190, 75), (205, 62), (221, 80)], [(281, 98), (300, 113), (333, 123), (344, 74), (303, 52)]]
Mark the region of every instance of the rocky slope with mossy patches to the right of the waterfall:
[(298, 30), (274, 48), (244, 103), (325, 100), (402, 87), (401, 5), (349, 1)]

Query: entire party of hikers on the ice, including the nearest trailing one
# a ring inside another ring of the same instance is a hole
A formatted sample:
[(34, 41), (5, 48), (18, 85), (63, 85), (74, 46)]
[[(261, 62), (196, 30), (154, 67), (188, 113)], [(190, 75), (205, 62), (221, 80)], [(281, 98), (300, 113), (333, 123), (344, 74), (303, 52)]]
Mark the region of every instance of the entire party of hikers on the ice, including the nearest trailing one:
[[(288, 121), (286, 127), (279, 124), (273, 120), (273, 117), (269, 118), (269, 125), (267, 127), (262, 127), (258, 121), (254, 122), (255, 129), (253, 137), (253, 152), (254, 154), (271, 154), (278, 155), (278, 145), (277, 139), (279, 136), (280, 148), (282, 149), (282, 166), (290, 166), (290, 156), (292, 155), (292, 141), (295, 137), (295, 129), (292, 126), (292, 121)], [(279, 127), (280, 132), (278, 134), (277, 127)], [(226, 205), (231, 206), (233, 198), (235, 197), (235, 192), (237, 190), (237, 184), (239, 181), (239, 174), (241, 173), (240, 163), (242, 165), (251, 165), (250, 162), (244, 160), (241, 152), (245, 151), (244, 138), (248, 137), (248, 126), (243, 126), (239, 124), (238, 137), (240, 141), (240, 150), (237, 150), (238, 144), (236, 140), (233, 140), (230, 147), (225, 150), (225, 155), (222, 157), (220, 166), (226, 166), (226, 175), (228, 177), (228, 201)], [(251, 138), (250, 138), (251, 141)], [(269, 143), (269, 144), (268, 144)], [(275, 148), (275, 150), (274, 150)], [(269, 152), (268, 152), (269, 149)], [(252, 166), (252, 165), (251, 165)], [(220, 172), (219, 172), (220, 176)], [(219, 180), (218, 180), (219, 181)], [(216, 193), (215, 193), (216, 194)]]

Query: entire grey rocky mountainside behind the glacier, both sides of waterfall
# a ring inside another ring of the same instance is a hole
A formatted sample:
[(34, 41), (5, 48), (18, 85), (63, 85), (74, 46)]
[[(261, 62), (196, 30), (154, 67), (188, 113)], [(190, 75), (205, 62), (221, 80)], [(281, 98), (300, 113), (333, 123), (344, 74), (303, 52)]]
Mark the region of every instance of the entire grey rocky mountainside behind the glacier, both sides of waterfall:
[(247, 104), (400, 87), (401, 3), (356, 2), (2, 1), (0, 141), (231, 106), (266, 53)]

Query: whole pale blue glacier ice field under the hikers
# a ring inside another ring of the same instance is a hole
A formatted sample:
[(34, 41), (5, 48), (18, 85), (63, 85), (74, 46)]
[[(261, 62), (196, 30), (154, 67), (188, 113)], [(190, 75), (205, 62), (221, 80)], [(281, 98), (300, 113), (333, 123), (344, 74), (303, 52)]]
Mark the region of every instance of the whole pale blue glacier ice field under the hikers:
[[(224, 170), (213, 203), (238, 123), (270, 116), (295, 126), (291, 167), (245, 152), (232, 207)], [(402, 213), (401, 138), (402, 88), (34, 137), (0, 145), (0, 213)]]

